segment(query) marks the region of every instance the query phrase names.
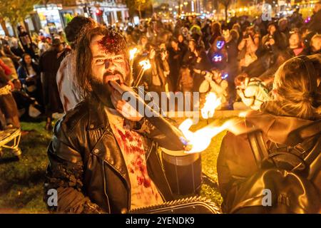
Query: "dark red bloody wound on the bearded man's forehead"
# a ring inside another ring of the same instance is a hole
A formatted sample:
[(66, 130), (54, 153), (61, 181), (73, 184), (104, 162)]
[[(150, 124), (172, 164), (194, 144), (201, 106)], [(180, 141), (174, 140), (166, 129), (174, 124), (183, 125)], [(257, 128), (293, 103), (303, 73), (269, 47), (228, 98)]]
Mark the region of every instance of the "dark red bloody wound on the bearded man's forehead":
[(124, 53), (126, 50), (126, 42), (121, 34), (116, 32), (109, 32), (103, 36), (100, 41), (97, 41), (98, 47), (105, 53)]

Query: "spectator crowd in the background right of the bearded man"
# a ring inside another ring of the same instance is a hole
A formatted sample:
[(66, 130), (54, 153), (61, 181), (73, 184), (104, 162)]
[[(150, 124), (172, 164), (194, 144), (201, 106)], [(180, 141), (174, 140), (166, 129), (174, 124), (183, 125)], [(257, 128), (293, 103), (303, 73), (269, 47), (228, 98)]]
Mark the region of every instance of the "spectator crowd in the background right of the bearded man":
[(212, 91), (222, 110), (258, 110), (282, 63), (320, 53), (320, 12), (316, 4), (309, 24), (297, 11), (272, 21), (239, 16), (228, 23), (193, 16), (162, 23), (156, 16), (124, 33), (128, 46), (138, 46), (134, 76), (139, 61), (151, 61), (141, 81), (147, 90), (199, 92), (201, 101)]

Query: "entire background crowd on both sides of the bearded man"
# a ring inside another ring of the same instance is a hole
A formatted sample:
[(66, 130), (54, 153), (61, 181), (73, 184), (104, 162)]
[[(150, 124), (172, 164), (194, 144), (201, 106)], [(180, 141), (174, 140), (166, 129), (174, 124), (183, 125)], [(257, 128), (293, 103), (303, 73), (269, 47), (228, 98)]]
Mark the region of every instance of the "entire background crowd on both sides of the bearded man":
[[(320, 53), (320, 23), (316, 22), (320, 13), (320, 4), (315, 4), (309, 23), (297, 11), (272, 21), (235, 16), (228, 23), (197, 16), (162, 22), (154, 14), (140, 25), (113, 28), (126, 37), (128, 48), (138, 48), (132, 66), (134, 81), (141, 69), (138, 63), (150, 61), (151, 69), (138, 85), (145, 90), (199, 92), (200, 108), (206, 94), (213, 92), (221, 99), (221, 110), (258, 110), (269, 98), (273, 75), (282, 63), (293, 56)], [(51, 130), (53, 113), (63, 113), (80, 100), (59, 94), (58, 89), (58, 68), (75, 39), (70, 27), (57, 34), (41, 30), (31, 38), (18, 26), (18, 38), (1, 38), (1, 87), (6, 87), (6, 94), (0, 96), (3, 128), (18, 128), (19, 118), (44, 115), (46, 129)]]

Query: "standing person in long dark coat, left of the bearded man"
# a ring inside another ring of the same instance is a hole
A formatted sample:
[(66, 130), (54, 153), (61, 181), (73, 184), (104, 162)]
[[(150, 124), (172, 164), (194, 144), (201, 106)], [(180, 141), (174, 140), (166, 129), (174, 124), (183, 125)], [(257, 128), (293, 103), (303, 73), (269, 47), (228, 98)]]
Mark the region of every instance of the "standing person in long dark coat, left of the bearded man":
[(63, 58), (70, 52), (64, 48), (64, 43), (59, 38), (54, 38), (52, 48), (45, 51), (39, 60), (39, 68), (42, 73), (44, 91), (44, 105), (46, 109), (47, 123), (46, 130), (51, 130), (53, 113), (63, 113), (63, 106), (59, 98), (56, 74)]

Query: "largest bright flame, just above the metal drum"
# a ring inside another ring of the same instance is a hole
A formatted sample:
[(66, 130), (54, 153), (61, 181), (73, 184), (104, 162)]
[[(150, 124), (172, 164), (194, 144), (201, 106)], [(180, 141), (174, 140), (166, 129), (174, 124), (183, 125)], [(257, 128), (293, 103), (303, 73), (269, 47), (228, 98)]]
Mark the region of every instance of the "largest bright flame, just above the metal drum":
[(210, 123), (204, 128), (196, 130), (195, 133), (193, 133), (189, 130), (193, 125), (193, 120), (190, 118), (184, 120), (178, 128), (182, 131), (184, 137), (188, 140), (188, 146), (190, 150), (185, 152), (202, 152), (210, 145), (210, 141), (215, 135), (223, 132), (223, 130), (231, 128), (235, 124), (234, 121), (235, 120), (228, 120), (220, 126), (215, 125), (215, 122)]

